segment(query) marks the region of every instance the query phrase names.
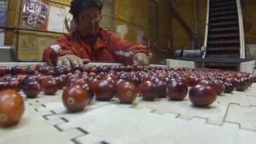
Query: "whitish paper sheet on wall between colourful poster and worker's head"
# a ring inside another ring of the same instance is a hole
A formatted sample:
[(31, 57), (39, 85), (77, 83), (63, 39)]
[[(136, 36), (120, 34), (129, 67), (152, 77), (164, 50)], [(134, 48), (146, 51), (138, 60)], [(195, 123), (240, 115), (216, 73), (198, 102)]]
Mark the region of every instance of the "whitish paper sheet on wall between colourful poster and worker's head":
[(65, 10), (58, 7), (50, 7), (48, 31), (63, 33)]

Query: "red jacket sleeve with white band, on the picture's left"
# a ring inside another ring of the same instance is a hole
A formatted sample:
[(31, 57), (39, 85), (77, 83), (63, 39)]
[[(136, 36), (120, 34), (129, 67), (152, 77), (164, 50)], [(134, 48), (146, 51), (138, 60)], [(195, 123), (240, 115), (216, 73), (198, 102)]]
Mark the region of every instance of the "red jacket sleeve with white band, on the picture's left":
[(55, 65), (60, 56), (74, 54), (73, 47), (69, 44), (68, 35), (64, 35), (44, 50), (42, 60)]

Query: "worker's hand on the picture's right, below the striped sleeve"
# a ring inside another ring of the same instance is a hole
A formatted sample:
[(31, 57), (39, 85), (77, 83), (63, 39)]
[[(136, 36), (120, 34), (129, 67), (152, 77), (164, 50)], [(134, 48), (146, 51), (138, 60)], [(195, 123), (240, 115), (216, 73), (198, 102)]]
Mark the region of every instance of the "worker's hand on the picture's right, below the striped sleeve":
[(134, 62), (134, 65), (147, 66), (150, 63), (150, 58), (148, 55), (144, 53), (137, 53), (134, 55), (133, 62)]

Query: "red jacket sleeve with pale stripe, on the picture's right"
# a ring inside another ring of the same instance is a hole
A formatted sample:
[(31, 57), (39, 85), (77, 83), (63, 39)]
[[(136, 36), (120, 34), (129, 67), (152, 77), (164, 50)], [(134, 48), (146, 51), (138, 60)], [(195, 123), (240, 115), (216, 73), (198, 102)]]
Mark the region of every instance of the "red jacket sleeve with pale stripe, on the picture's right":
[(116, 34), (111, 34), (111, 49), (113, 50), (114, 59), (125, 65), (133, 64), (133, 57), (137, 53), (144, 53), (148, 56), (152, 55), (148, 46), (143, 46), (139, 42), (126, 41)]

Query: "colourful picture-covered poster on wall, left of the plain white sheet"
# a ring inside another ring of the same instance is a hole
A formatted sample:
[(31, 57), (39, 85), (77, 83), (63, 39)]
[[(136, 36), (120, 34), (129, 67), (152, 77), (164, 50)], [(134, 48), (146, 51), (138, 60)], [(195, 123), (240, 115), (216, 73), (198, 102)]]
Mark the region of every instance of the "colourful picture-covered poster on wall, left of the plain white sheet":
[(22, 28), (46, 30), (49, 15), (49, 2), (25, 0), (20, 20)]

